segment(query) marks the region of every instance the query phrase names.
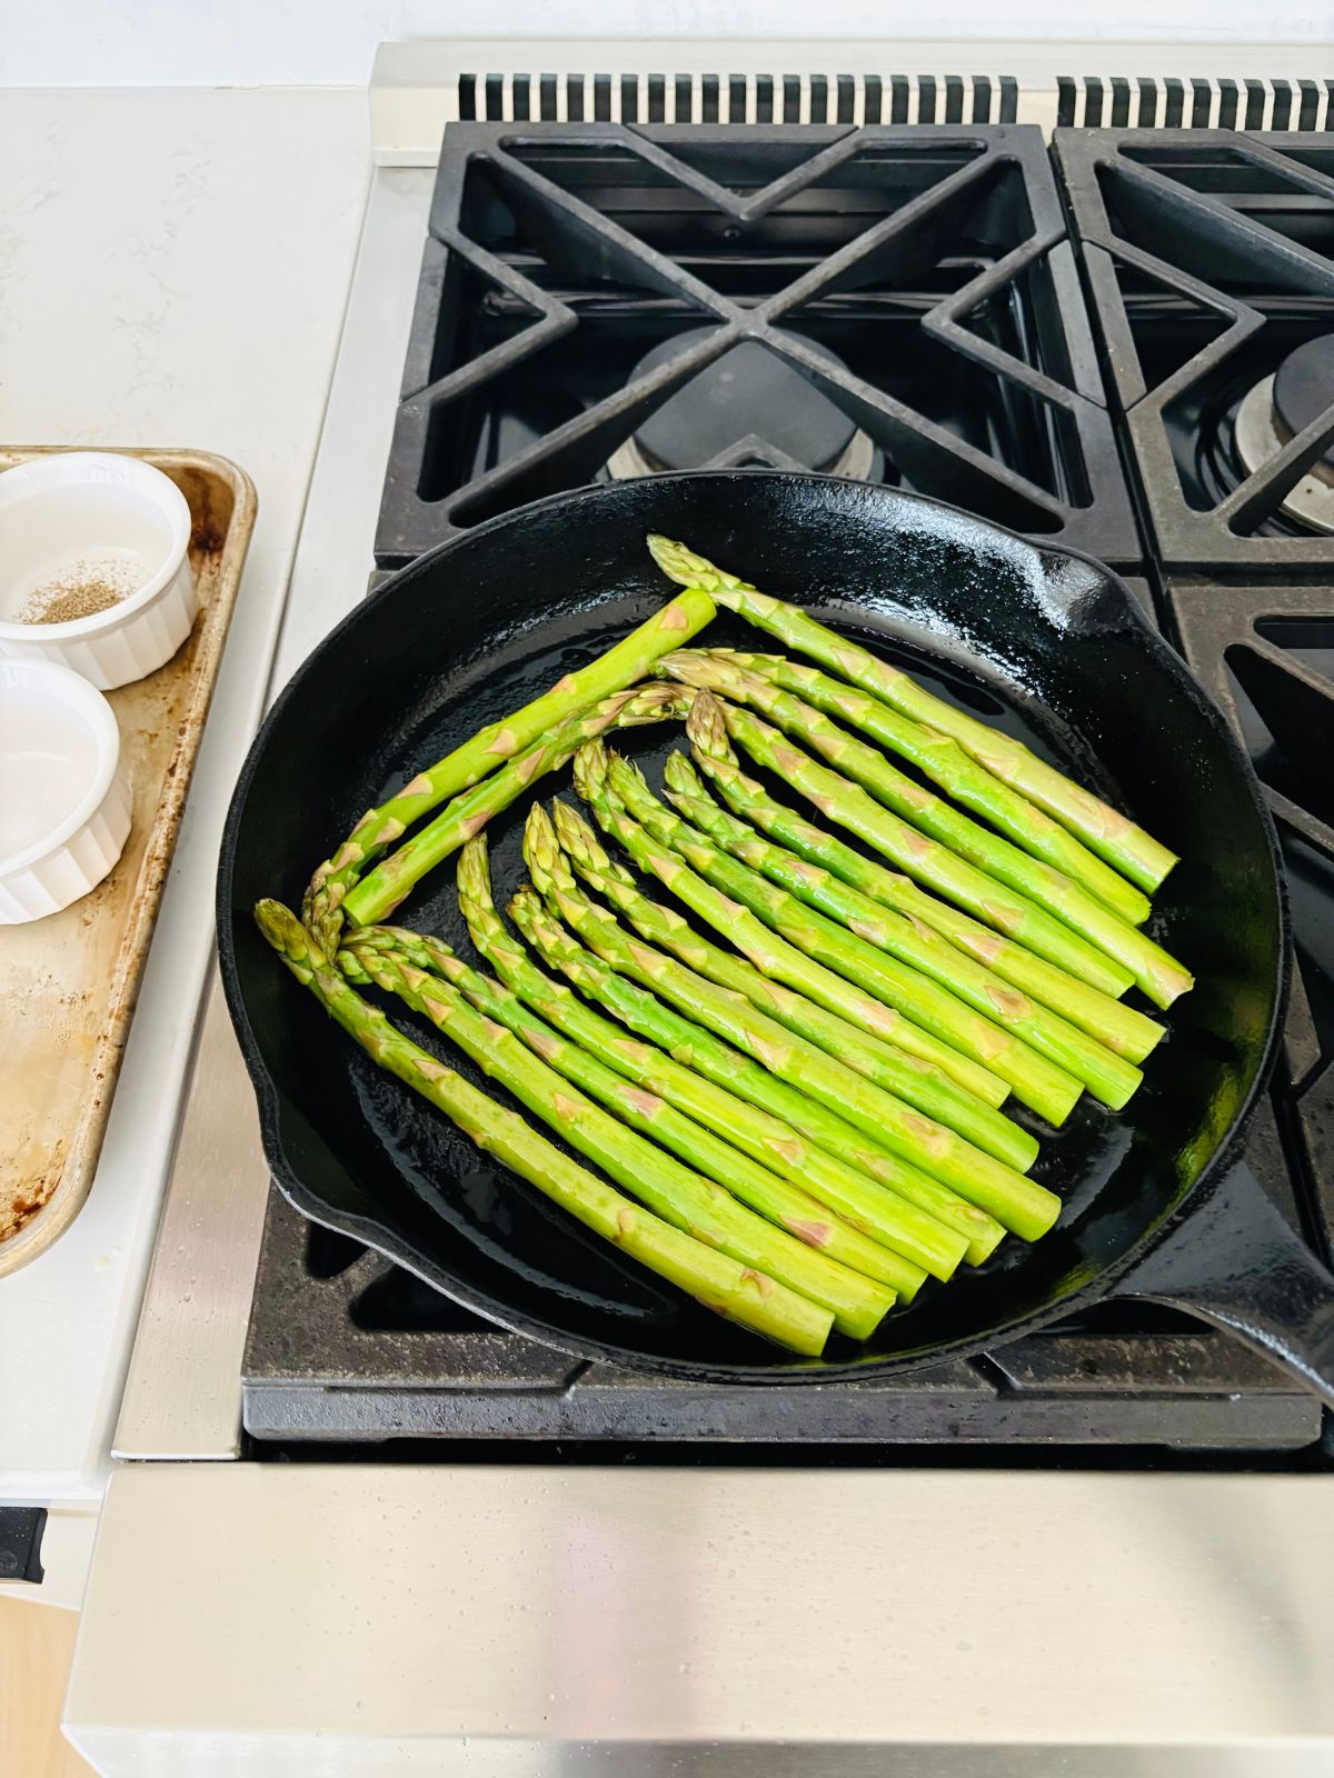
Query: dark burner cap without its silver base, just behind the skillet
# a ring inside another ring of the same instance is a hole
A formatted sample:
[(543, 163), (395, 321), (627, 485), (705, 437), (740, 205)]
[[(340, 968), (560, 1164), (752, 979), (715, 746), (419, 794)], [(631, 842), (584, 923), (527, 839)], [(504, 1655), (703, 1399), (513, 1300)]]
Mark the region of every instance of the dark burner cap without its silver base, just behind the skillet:
[[(635, 377), (671, 364), (711, 331), (692, 327), (663, 340), (635, 364)], [(847, 370), (827, 347), (811, 340), (806, 345)], [(827, 469), (848, 448), (856, 430), (856, 423), (786, 359), (754, 340), (743, 340), (649, 414), (635, 434), (635, 444), (658, 469), (697, 469), (754, 434), (808, 469)]]

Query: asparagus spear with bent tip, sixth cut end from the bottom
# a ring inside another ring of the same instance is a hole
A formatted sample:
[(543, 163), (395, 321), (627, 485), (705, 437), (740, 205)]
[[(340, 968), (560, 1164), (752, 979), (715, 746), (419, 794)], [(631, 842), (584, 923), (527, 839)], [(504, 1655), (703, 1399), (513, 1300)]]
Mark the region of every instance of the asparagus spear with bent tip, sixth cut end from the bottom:
[(991, 1211), (1014, 1234), (1035, 1241), (1048, 1232), (1060, 1214), (1060, 1198), (1051, 1191), (793, 1037), (738, 996), (715, 987), (676, 958), (631, 939), (610, 914), (580, 891), (541, 804), (530, 811), (523, 837), (523, 855), (537, 891), (614, 969), (699, 1019), (779, 1079), (847, 1117), (893, 1154), (952, 1186), (971, 1204)]

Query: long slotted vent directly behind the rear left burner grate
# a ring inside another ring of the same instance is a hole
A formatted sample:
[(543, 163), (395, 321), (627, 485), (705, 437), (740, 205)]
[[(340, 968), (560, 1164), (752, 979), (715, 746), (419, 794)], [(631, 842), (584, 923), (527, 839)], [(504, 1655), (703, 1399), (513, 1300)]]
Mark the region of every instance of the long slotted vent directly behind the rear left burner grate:
[(484, 123), (1014, 123), (1012, 75), (459, 75)]

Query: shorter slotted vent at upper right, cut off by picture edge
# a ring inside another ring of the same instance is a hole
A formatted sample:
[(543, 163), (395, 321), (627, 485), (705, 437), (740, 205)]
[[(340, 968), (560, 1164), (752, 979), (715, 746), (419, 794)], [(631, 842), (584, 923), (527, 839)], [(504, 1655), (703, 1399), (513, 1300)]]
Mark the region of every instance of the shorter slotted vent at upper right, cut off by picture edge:
[(1085, 130), (1334, 130), (1334, 80), (1060, 75), (1057, 123)]

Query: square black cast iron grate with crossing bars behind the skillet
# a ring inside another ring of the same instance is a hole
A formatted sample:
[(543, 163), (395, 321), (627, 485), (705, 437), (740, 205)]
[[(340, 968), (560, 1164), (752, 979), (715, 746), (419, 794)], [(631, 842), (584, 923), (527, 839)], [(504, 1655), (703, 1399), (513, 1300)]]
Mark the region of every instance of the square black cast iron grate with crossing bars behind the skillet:
[[(743, 343), (854, 423), (857, 473), (1140, 558), (1035, 128), (464, 123), (445, 133), (377, 560), (607, 477)], [(699, 468), (720, 464), (820, 466), (754, 432)]]

